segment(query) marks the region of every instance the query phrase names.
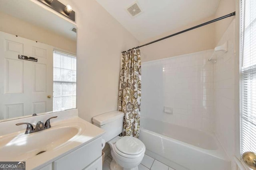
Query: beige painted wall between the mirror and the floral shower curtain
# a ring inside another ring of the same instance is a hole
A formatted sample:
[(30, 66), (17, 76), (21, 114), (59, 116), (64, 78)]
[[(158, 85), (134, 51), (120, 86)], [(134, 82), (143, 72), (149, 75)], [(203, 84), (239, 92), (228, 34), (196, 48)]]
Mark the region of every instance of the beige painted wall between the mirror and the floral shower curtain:
[(77, 103), (79, 116), (117, 109), (120, 53), (138, 46), (134, 38), (95, 0), (76, 0)]

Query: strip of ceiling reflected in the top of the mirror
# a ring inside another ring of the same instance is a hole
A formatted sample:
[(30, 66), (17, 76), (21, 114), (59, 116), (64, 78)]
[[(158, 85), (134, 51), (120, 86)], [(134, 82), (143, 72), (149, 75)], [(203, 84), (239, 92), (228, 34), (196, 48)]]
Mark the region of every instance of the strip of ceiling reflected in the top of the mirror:
[(0, 12), (76, 41), (76, 33), (70, 30), (74, 24), (30, 0), (0, 0)]

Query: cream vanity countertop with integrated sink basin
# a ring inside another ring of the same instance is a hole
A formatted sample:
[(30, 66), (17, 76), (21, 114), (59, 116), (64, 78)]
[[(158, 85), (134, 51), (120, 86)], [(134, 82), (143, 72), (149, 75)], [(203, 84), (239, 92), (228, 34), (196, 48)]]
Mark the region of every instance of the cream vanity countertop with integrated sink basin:
[[(24, 129), (0, 136), (0, 160), (25, 161), (26, 169), (39, 169), (90, 143), (105, 132), (78, 116), (51, 124), (50, 129), (28, 135), (24, 134)], [(43, 150), (46, 152), (36, 155)]]

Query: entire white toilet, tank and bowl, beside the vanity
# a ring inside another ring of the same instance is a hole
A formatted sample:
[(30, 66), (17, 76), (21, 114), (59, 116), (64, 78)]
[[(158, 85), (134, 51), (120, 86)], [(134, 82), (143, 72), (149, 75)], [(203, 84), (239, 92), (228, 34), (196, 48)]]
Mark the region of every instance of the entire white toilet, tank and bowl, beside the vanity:
[(124, 113), (111, 111), (92, 118), (94, 125), (104, 129), (103, 139), (110, 145), (111, 170), (138, 170), (146, 147), (135, 137), (119, 137), (123, 131)]

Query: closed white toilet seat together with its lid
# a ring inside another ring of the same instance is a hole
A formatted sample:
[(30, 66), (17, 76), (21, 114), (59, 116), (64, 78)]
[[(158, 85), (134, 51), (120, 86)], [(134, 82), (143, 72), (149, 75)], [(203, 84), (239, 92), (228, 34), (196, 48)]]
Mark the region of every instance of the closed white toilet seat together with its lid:
[(146, 147), (142, 141), (135, 137), (124, 136), (113, 146), (116, 154), (124, 158), (137, 158), (144, 154)]

